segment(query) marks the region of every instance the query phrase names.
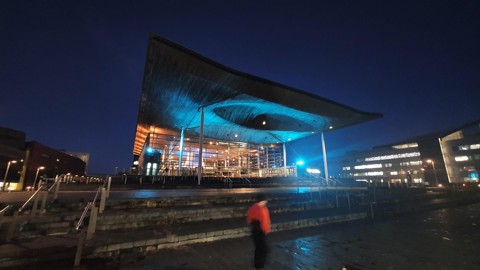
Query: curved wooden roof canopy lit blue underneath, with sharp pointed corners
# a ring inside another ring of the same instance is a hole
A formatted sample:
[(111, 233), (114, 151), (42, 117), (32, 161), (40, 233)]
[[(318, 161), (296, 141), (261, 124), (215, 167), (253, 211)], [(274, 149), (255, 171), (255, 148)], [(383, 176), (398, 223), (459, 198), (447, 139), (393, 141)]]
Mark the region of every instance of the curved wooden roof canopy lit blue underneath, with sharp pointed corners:
[(234, 70), (150, 33), (133, 153), (153, 128), (180, 132), (188, 125), (185, 132), (198, 136), (200, 113), (194, 115), (202, 106), (206, 138), (255, 144), (383, 117)]

